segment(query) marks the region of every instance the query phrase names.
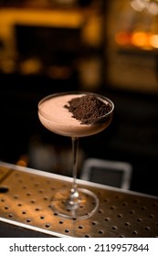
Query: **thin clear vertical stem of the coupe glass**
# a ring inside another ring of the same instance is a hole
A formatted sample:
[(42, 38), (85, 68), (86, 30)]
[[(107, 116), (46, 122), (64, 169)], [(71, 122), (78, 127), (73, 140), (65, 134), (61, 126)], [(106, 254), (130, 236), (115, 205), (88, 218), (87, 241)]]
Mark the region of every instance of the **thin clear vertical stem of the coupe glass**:
[(77, 193), (77, 169), (78, 169), (78, 153), (79, 153), (79, 138), (78, 137), (72, 137), (72, 157), (73, 157), (73, 184), (72, 184), (72, 193)]

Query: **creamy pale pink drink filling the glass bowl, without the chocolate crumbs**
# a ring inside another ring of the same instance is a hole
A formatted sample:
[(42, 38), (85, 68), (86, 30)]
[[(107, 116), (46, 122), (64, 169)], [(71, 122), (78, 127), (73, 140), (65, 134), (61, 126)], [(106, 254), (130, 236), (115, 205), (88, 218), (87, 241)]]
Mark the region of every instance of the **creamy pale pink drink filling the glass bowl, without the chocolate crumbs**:
[[(95, 133), (100, 133), (111, 122), (111, 116), (108, 112), (108, 117), (102, 122), (85, 124), (73, 117), (72, 112), (68, 111), (65, 106), (68, 101), (74, 98), (83, 97), (85, 94), (61, 94), (57, 97), (48, 97), (40, 103), (38, 112), (40, 122), (51, 132), (58, 133), (70, 137), (83, 137)], [(106, 105), (110, 104), (106, 99), (101, 100)], [(112, 109), (112, 106), (111, 106)], [(105, 113), (106, 115), (106, 113)], [(100, 117), (101, 119), (102, 117)]]

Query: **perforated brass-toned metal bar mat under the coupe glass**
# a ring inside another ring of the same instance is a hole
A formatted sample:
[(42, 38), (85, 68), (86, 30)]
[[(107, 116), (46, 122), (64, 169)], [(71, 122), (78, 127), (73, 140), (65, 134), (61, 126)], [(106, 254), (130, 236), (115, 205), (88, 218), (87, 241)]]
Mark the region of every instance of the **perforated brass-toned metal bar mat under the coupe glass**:
[[(49, 207), (71, 178), (0, 163), (0, 220), (54, 237), (158, 237), (158, 198), (78, 181), (100, 198), (89, 219), (62, 219)], [(22, 236), (23, 234), (21, 234)]]

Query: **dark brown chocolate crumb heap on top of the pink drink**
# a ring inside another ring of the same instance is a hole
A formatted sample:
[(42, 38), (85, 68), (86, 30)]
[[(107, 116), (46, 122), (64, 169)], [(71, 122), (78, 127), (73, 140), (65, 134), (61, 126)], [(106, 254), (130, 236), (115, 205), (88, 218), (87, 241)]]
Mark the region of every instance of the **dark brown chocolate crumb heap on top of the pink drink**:
[(100, 117), (111, 111), (109, 103), (100, 101), (100, 98), (90, 94), (74, 98), (68, 101), (68, 105), (64, 107), (69, 112), (72, 112), (72, 117), (79, 120), (82, 124), (105, 122)]

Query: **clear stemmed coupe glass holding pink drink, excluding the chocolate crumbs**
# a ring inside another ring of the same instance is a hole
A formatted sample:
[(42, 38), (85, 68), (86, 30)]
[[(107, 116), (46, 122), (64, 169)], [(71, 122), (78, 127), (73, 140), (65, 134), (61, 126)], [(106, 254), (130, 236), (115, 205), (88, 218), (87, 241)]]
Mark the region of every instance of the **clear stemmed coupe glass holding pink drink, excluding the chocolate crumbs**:
[[(100, 115), (93, 123), (80, 122), (68, 110), (69, 101), (86, 95), (95, 96), (109, 106), (108, 112)], [(108, 127), (111, 123), (113, 109), (114, 104), (108, 98), (85, 91), (51, 94), (38, 102), (40, 122), (50, 132), (68, 136), (72, 141), (72, 185), (69, 189), (59, 189), (51, 199), (51, 208), (58, 216), (68, 219), (86, 219), (98, 208), (99, 198), (97, 195), (84, 187), (78, 187), (77, 184), (79, 137), (100, 133)]]

